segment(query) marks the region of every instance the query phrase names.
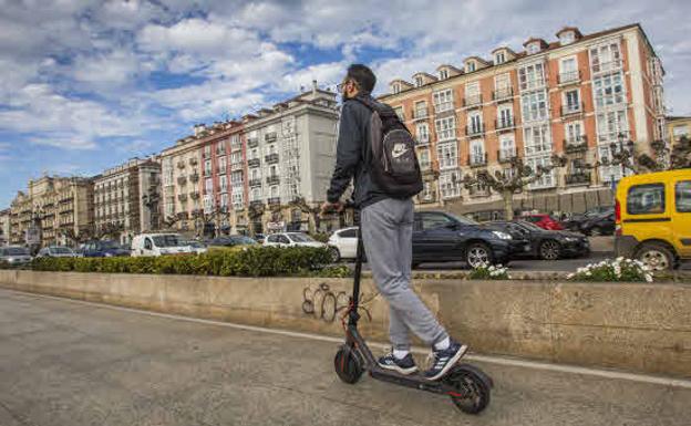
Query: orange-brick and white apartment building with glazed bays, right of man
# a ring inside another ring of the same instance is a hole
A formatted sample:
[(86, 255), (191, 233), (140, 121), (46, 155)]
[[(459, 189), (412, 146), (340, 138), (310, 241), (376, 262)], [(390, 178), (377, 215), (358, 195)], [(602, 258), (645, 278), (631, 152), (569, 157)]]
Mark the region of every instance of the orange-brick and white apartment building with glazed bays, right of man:
[[(434, 75), (396, 79), (381, 96), (417, 139), (423, 205), (452, 202), (460, 211), (501, 211), (488, 188), (463, 187), (479, 169), (510, 173), (520, 156), (533, 168), (566, 155), (568, 166), (533, 183), (519, 199), (546, 210), (582, 210), (611, 204), (620, 167), (587, 165), (611, 157), (619, 142), (637, 152), (666, 134), (664, 71), (639, 24), (592, 34), (566, 27), (547, 42), (530, 38), (523, 50), (499, 46), (491, 59), (471, 56)], [(591, 194), (588, 194), (591, 193)], [(454, 202), (461, 201), (461, 202)]]

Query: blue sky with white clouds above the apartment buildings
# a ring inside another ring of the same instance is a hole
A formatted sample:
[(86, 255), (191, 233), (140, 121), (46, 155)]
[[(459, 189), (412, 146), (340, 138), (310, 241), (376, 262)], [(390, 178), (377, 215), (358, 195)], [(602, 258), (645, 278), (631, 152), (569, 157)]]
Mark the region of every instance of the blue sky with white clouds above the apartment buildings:
[(640, 22), (691, 114), (690, 1), (0, 0), (0, 208), (43, 174), (92, 176), (367, 63), (394, 77), (561, 27)]

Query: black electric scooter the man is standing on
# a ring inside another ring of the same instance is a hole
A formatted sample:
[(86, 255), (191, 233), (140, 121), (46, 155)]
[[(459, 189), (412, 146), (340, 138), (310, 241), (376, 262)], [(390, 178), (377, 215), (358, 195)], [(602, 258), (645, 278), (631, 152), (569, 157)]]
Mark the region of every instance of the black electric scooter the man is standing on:
[[(348, 207), (351, 206), (347, 205), (347, 208)], [(346, 330), (346, 343), (339, 347), (333, 360), (336, 374), (338, 374), (341, 381), (348, 384), (354, 384), (360, 380), (362, 373), (367, 371), (372, 378), (382, 382), (434, 394), (448, 395), (456, 407), (462, 412), (479, 414), (487, 407), (487, 404), (489, 404), (493, 382), (487, 374), (473, 365), (456, 364), (439, 381), (426, 380), (419, 373), (404, 375), (379, 366), (377, 359), (374, 359), (367, 342), (358, 331), (358, 321), (360, 320), (360, 314), (358, 313), (360, 278), (364, 254), (360, 236), (360, 226), (358, 226), (353, 292), (349, 300), (348, 310), (342, 316), (343, 329)], [(347, 323), (346, 320), (348, 320)]]

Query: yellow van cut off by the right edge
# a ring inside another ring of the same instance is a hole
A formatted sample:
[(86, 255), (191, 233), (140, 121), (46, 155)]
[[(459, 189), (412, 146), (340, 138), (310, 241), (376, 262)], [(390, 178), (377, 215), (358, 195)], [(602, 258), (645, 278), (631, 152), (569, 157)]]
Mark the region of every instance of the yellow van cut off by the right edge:
[(615, 221), (617, 256), (658, 271), (691, 259), (691, 168), (622, 178)]

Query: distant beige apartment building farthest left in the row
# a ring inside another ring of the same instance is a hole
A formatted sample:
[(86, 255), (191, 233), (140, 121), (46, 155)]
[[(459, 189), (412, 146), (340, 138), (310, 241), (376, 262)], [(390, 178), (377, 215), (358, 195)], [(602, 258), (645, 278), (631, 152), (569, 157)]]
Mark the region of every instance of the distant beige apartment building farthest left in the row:
[(74, 243), (93, 233), (93, 183), (81, 177), (43, 176), (29, 180), (10, 207), (10, 241), (42, 246)]

